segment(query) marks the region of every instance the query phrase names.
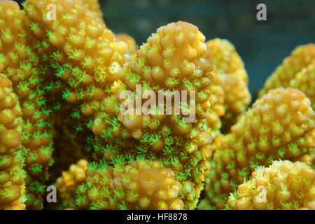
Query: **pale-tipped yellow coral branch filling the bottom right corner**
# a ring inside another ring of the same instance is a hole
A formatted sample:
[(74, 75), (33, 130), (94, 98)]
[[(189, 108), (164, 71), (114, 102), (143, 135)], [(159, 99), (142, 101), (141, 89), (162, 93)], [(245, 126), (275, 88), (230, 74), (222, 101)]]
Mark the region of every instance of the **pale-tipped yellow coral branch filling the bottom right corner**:
[(304, 163), (274, 161), (267, 168), (256, 168), (251, 176), (230, 195), (229, 209), (315, 209), (315, 171)]

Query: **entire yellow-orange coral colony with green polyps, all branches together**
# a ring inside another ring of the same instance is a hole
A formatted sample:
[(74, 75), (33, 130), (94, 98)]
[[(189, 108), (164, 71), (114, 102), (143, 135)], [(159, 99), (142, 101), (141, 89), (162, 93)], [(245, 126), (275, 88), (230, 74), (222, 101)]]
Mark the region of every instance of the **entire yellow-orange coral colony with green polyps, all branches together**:
[(0, 1), (0, 209), (315, 209), (314, 44), (248, 109), (232, 43), (180, 21), (138, 48), (99, 8)]

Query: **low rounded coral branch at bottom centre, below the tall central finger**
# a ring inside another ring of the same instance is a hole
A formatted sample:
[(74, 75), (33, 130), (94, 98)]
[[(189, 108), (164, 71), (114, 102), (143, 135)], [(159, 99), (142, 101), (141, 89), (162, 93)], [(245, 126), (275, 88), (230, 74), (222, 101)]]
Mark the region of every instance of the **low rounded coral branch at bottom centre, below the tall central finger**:
[(78, 205), (85, 209), (183, 209), (181, 183), (159, 161), (90, 164), (86, 174), (77, 189)]

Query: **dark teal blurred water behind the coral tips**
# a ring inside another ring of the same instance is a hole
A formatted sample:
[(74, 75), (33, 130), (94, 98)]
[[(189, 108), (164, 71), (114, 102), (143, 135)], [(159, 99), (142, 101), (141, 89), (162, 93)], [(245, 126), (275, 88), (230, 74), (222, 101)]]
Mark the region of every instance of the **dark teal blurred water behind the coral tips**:
[[(19, 1), (22, 2), (22, 1)], [(245, 62), (253, 98), (297, 45), (315, 43), (315, 0), (99, 0), (107, 27), (137, 43), (169, 22), (199, 27), (207, 40), (226, 38)], [(265, 3), (267, 21), (256, 19)]]

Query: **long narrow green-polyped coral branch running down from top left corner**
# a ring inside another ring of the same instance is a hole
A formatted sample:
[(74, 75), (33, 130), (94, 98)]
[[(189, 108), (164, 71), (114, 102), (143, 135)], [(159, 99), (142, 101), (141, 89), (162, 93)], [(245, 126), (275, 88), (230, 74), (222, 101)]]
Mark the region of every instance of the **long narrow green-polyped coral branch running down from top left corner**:
[(0, 64), (13, 82), (24, 120), (22, 151), (27, 170), (27, 208), (42, 209), (42, 195), (52, 165), (50, 110), (45, 106), (43, 70), (18, 3), (0, 2)]

